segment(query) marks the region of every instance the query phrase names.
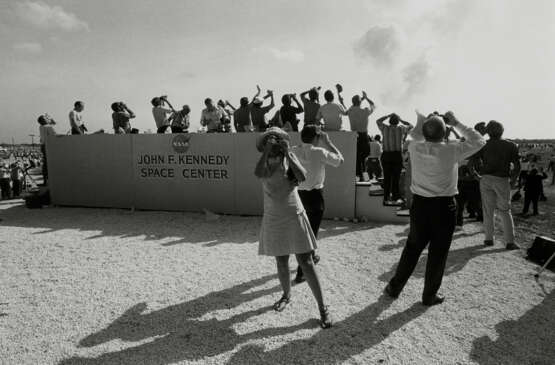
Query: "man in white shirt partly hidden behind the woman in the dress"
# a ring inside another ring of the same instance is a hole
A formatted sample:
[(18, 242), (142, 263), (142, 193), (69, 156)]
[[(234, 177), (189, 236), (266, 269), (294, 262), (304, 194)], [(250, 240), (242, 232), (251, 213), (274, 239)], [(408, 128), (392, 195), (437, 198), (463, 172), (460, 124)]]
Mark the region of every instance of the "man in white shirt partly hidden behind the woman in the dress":
[[(302, 144), (294, 146), (292, 152), (306, 169), (306, 180), (298, 186), (299, 197), (303, 203), (310, 227), (315, 237), (318, 237), (320, 222), (324, 215), (324, 180), (326, 179), (326, 165), (338, 167), (343, 162), (343, 155), (335, 147), (330, 137), (321, 132), (314, 124), (307, 124), (301, 131)], [(319, 147), (319, 146), (324, 147)], [(314, 251), (314, 263), (320, 261)], [(303, 282), (303, 271), (297, 268), (295, 282)]]

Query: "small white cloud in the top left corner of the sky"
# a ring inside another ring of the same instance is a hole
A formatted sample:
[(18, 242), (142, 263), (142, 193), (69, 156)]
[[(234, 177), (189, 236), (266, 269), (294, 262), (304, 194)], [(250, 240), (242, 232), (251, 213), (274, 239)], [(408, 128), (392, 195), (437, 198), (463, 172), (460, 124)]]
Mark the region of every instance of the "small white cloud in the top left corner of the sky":
[(50, 6), (42, 1), (18, 3), (15, 12), (27, 23), (42, 29), (89, 30), (89, 25), (75, 14), (65, 11), (60, 6)]

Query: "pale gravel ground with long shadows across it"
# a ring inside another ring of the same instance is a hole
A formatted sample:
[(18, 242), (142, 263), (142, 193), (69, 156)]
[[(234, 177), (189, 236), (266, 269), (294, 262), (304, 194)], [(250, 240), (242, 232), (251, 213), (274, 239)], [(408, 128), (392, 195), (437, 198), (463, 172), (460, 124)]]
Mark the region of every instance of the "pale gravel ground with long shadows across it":
[[(550, 204), (517, 219), (521, 242), (554, 235)], [(2, 364), (555, 362), (555, 274), (534, 280), (524, 250), (483, 247), (476, 223), (456, 233), (447, 300), (426, 309), (425, 255), (398, 300), (381, 294), (407, 226), (325, 221), (318, 270), (335, 326), (321, 330), (306, 283), (271, 310), (281, 293), (257, 256), (259, 217), (13, 201), (0, 219)]]

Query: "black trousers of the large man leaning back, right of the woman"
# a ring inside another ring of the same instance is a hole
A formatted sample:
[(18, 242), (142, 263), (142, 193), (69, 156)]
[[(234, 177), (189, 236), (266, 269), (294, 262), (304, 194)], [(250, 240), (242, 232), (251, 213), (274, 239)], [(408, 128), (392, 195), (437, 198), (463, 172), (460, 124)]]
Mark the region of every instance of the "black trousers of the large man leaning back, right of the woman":
[(395, 276), (389, 282), (395, 294), (403, 290), (422, 251), (429, 244), (422, 299), (431, 299), (436, 295), (441, 286), (453, 239), (456, 212), (457, 204), (453, 197), (425, 198), (414, 195), (410, 211), (409, 237)]

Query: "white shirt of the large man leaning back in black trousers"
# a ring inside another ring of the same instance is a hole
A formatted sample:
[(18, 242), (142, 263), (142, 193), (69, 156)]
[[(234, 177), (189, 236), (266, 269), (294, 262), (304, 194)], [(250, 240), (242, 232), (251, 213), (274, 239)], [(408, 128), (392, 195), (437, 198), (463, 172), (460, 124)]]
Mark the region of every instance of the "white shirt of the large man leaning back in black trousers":
[(455, 125), (464, 142), (426, 142), (422, 124), (426, 118), (417, 114), (418, 122), (410, 133), (408, 147), (411, 163), (413, 194), (424, 197), (454, 196), (457, 191), (459, 162), (478, 152), (486, 141), (474, 129), (461, 123)]

